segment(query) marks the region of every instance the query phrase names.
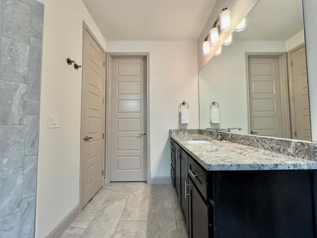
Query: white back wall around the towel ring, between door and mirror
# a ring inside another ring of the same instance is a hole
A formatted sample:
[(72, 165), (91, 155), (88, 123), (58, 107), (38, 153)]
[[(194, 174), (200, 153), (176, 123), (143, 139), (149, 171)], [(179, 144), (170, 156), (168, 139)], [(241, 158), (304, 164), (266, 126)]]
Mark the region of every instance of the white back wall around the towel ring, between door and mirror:
[(168, 129), (179, 128), (178, 107), (190, 106), (188, 128), (198, 128), (196, 41), (107, 41), (107, 52), (150, 52), (151, 177), (169, 177)]

